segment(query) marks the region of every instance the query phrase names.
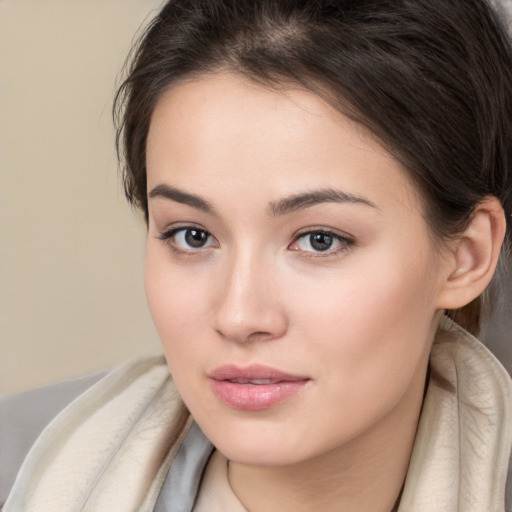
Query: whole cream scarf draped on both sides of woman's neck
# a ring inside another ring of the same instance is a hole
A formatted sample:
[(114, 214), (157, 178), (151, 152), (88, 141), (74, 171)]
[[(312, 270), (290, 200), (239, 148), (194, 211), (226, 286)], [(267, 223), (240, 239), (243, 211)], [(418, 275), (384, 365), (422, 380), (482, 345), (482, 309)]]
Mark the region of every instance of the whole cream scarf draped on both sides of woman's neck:
[[(503, 512), (512, 385), (443, 319), (399, 512)], [(163, 357), (112, 372), (44, 430), (4, 512), (152, 512), (192, 418)]]

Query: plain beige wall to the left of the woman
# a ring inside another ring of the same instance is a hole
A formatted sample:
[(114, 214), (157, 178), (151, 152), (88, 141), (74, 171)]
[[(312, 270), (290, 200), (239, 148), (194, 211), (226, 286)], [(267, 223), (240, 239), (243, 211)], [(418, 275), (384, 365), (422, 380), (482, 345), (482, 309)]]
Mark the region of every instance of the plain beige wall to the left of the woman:
[(0, 392), (155, 350), (116, 77), (157, 0), (0, 0)]

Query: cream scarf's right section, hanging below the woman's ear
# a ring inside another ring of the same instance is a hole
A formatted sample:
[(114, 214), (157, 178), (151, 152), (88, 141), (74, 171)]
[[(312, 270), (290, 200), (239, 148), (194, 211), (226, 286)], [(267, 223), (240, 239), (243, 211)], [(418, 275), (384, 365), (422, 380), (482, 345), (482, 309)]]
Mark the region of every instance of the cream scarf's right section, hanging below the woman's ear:
[(443, 318), (399, 512), (503, 512), (512, 384), (494, 355)]

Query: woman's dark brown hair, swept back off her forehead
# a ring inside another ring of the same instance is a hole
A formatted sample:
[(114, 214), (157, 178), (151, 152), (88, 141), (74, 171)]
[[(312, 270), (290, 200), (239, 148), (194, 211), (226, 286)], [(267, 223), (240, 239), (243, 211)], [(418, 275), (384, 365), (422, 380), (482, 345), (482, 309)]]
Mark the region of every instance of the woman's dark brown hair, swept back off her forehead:
[[(130, 58), (116, 144), (146, 221), (155, 106), (177, 82), (222, 71), (298, 84), (361, 123), (416, 184), (435, 240), (460, 235), (489, 195), (511, 217), (512, 51), (485, 0), (170, 0)], [(479, 297), (451, 316), (476, 332), (481, 310)]]

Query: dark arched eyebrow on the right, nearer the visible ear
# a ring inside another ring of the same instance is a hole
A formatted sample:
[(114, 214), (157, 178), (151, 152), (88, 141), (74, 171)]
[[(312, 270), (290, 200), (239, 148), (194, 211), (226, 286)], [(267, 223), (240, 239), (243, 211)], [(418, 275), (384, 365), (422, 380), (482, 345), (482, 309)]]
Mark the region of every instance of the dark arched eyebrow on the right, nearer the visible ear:
[(286, 215), (297, 210), (305, 210), (311, 206), (323, 203), (355, 203), (377, 208), (374, 203), (363, 197), (333, 188), (326, 188), (290, 196), (277, 203), (270, 203), (269, 213), (274, 217), (278, 215)]

